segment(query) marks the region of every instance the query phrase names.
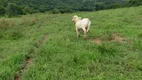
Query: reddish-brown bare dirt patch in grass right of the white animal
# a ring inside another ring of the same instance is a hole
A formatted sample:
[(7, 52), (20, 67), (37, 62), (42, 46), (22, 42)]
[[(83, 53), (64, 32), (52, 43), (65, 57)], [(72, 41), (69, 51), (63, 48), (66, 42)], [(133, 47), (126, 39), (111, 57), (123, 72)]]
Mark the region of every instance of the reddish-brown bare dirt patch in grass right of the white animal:
[(104, 42), (119, 42), (123, 44), (126, 41), (126, 37), (121, 36), (119, 33), (113, 33), (110, 35), (103, 35), (99, 38), (89, 38), (89, 40), (98, 45)]

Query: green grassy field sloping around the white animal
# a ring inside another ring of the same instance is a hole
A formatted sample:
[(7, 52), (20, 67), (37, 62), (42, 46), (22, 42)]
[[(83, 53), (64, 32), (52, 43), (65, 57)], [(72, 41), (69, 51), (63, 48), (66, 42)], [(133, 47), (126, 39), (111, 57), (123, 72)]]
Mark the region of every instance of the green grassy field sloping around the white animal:
[[(87, 40), (75, 14), (92, 21)], [(16, 79), (141, 80), (142, 6), (0, 18), (0, 80)]]

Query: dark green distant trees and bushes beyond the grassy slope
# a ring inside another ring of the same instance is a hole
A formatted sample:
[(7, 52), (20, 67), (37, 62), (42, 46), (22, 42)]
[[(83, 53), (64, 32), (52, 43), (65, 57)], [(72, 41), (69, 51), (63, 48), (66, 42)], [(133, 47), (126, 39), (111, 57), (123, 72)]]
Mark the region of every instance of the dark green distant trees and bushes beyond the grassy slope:
[(51, 11), (96, 11), (120, 7), (139, 6), (142, 0), (0, 0), (0, 15), (23, 15)]

